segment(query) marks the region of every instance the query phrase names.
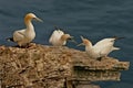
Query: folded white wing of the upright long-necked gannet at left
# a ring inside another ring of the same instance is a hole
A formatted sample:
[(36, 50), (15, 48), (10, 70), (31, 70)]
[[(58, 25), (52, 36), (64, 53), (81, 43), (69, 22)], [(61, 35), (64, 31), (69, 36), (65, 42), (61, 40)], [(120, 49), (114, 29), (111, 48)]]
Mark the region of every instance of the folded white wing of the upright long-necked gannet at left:
[(23, 40), (25, 37), (24, 36), (24, 32), (25, 32), (25, 30), (14, 31), (14, 33), (13, 33), (13, 41), (14, 42), (20, 42), (21, 40)]

